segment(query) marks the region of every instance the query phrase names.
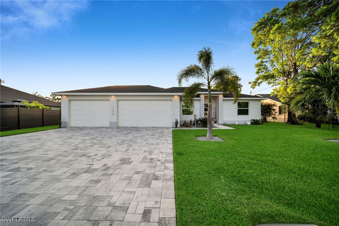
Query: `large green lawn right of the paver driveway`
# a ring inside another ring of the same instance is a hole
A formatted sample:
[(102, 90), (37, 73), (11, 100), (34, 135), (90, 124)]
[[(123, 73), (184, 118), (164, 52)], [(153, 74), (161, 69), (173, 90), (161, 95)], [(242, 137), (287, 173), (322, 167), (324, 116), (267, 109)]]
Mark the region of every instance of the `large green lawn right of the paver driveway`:
[(173, 130), (178, 225), (339, 225), (339, 128)]

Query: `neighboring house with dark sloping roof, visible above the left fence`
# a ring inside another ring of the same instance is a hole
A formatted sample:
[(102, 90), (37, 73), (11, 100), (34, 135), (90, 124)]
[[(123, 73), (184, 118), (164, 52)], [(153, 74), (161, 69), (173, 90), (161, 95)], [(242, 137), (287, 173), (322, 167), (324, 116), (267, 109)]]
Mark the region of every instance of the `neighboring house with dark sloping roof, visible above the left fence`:
[[(52, 110), (61, 108), (61, 103), (47, 100), (43, 97), (38, 97), (33, 94), (28, 94), (23, 91), (13, 89), (4, 85), (0, 85), (0, 102), (1, 107), (17, 107), (22, 106), (21, 101), (38, 101), (39, 103), (50, 107)], [(11, 103), (12, 102), (12, 103)]]

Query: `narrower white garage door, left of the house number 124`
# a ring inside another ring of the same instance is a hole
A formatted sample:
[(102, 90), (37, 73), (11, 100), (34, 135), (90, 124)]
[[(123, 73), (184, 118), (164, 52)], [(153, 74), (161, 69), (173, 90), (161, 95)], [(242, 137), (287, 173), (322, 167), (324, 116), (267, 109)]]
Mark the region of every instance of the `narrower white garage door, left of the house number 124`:
[(109, 100), (71, 100), (71, 126), (109, 126)]

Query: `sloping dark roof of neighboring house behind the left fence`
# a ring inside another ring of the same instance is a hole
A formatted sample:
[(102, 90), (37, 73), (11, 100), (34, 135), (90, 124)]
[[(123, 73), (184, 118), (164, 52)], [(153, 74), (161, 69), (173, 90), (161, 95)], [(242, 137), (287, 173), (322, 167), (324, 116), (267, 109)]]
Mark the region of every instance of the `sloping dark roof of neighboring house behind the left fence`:
[(12, 102), (13, 100), (26, 100), (28, 102), (38, 101), (45, 106), (61, 106), (60, 102), (47, 100), (43, 97), (38, 97), (11, 87), (0, 85), (0, 102)]

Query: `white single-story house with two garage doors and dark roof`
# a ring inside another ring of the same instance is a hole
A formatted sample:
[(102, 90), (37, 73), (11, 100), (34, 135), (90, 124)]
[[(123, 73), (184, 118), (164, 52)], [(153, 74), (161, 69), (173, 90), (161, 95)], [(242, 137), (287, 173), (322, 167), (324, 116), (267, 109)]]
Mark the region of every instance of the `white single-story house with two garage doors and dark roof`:
[[(207, 115), (208, 93), (201, 89), (194, 108), (182, 104), (185, 87), (160, 88), (150, 85), (106, 86), (52, 93), (61, 96), (62, 126), (88, 127), (174, 127), (175, 119), (194, 120)], [(245, 124), (260, 119), (260, 101), (267, 98), (242, 94), (233, 104), (231, 94), (223, 97), (212, 90), (216, 123)]]

